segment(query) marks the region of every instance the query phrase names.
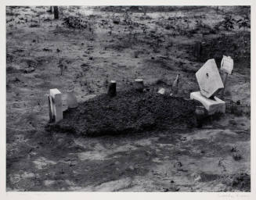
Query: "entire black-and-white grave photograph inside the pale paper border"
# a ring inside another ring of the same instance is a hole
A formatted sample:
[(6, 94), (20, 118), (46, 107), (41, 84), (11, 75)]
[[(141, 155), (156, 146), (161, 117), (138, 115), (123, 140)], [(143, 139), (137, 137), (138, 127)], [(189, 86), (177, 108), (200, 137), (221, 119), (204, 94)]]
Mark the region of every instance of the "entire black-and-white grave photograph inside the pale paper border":
[(251, 6), (6, 6), (6, 191), (251, 191)]

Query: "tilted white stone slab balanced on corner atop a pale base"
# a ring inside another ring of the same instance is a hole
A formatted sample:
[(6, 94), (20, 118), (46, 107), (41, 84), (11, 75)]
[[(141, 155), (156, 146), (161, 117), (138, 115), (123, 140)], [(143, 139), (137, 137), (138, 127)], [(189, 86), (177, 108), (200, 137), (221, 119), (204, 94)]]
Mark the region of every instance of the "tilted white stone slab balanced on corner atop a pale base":
[(206, 98), (215, 96), (224, 87), (215, 59), (208, 59), (197, 71), (196, 77), (201, 94)]

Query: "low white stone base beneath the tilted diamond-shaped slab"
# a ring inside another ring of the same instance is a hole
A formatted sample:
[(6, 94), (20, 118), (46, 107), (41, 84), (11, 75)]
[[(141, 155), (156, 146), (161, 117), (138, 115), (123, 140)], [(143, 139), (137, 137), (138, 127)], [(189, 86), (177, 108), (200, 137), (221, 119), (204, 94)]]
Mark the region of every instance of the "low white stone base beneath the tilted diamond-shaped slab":
[(190, 93), (190, 98), (201, 102), (209, 115), (213, 115), (216, 112), (225, 113), (225, 102), (217, 97), (215, 97), (215, 100), (205, 98), (200, 91), (194, 91)]

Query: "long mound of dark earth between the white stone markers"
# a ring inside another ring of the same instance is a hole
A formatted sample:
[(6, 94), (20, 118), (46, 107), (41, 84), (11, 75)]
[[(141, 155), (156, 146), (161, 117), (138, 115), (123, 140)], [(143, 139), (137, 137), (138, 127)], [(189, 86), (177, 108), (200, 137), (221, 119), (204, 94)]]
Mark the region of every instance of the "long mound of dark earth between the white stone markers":
[(63, 112), (63, 120), (47, 130), (99, 136), (143, 130), (196, 126), (197, 102), (171, 98), (155, 92), (118, 91), (117, 96), (99, 95), (76, 109)]

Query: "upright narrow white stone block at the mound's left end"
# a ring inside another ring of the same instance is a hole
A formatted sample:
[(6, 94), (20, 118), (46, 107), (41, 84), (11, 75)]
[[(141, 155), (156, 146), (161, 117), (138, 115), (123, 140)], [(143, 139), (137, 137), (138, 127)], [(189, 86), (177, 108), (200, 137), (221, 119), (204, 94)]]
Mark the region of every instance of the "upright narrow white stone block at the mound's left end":
[(57, 89), (50, 89), (50, 102), (52, 109), (53, 120), (57, 123), (60, 120), (63, 120), (63, 109), (62, 109), (62, 95), (61, 92)]

